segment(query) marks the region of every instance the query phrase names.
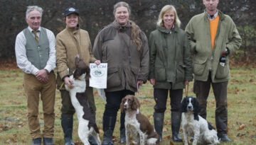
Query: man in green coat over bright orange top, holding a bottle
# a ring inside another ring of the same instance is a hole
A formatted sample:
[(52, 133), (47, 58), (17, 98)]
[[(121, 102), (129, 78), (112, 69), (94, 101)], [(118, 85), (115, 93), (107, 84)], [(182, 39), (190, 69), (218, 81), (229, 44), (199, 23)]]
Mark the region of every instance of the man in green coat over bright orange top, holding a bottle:
[(227, 86), (229, 54), (238, 50), (241, 37), (230, 16), (217, 9), (218, 0), (203, 0), (206, 11), (193, 16), (186, 25), (186, 33), (193, 52), (193, 92), (201, 105), (199, 113), (206, 119), (207, 98), (210, 84), (216, 100), (215, 123), (218, 137), (227, 137), (228, 103)]

